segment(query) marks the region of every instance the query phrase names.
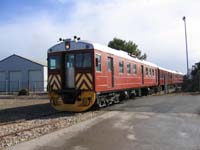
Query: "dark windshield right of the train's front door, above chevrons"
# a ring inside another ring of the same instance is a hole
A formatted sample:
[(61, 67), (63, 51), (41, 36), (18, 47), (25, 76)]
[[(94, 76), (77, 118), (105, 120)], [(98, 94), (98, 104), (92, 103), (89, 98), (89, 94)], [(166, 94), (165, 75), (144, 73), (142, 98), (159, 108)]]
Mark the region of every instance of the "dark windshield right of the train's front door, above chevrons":
[(91, 53), (76, 54), (76, 67), (77, 68), (89, 68), (92, 64)]

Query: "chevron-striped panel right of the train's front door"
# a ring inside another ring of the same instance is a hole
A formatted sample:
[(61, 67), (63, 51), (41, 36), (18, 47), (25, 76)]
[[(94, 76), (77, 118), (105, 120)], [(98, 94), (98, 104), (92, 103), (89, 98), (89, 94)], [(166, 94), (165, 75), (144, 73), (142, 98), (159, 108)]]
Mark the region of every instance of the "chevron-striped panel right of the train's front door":
[(76, 75), (76, 88), (81, 90), (92, 90), (93, 79), (91, 73), (78, 73)]

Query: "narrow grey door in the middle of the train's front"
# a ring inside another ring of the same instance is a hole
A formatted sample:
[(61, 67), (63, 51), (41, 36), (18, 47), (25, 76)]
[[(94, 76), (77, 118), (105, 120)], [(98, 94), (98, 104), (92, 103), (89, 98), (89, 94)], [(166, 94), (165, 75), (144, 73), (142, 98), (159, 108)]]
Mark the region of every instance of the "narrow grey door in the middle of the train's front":
[(65, 87), (74, 88), (74, 54), (65, 57)]

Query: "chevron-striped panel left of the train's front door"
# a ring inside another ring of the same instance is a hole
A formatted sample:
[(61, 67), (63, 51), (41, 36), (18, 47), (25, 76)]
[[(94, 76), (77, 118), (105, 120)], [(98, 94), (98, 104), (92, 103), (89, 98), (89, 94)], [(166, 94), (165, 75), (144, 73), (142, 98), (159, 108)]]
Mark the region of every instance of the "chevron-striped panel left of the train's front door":
[(49, 75), (49, 85), (51, 86), (52, 90), (61, 89), (61, 77), (60, 75)]

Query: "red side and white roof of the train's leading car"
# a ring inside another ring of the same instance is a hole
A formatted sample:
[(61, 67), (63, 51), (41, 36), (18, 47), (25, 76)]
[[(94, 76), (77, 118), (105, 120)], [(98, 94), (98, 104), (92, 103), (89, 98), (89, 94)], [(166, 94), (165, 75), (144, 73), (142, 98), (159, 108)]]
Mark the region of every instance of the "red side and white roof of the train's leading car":
[[(157, 86), (157, 66), (108, 47), (94, 50), (96, 92)], [(100, 62), (101, 61), (101, 62)]]

